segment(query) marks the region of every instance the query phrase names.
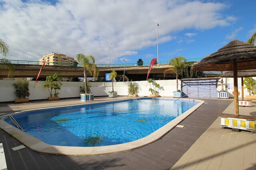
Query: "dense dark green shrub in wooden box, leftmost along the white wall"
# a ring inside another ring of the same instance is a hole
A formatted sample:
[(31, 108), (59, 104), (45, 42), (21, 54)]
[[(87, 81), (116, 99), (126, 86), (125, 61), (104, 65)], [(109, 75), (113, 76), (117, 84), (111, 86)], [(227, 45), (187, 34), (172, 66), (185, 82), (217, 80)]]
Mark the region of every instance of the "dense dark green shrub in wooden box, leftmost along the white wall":
[(15, 89), (14, 94), (17, 97), (14, 102), (28, 102), (29, 99), (26, 98), (26, 96), (30, 96), (28, 88), (29, 82), (27, 80), (22, 80), (21, 78), (18, 78), (18, 80), (14, 81), (12, 85)]

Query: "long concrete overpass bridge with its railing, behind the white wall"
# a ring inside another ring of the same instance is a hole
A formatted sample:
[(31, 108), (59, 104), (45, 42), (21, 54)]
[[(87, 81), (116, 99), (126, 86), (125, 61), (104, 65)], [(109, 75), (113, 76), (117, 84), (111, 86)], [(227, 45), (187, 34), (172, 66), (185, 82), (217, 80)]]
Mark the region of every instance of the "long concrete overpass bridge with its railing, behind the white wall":
[[(14, 78), (27, 78), (27, 77), (37, 77), (38, 72), (42, 65), (37, 61), (16, 61), (11, 60), (15, 68)], [(154, 65), (150, 72), (150, 77), (155, 79), (164, 78), (164, 70), (170, 68), (170, 65), (162, 62), (159, 65)], [(41, 63), (42, 64), (42, 63)], [(133, 64), (97, 64), (100, 73), (99, 77), (105, 77), (106, 73), (110, 73), (112, 70), (115, 70), (118, 75), (124, 74), (129, 78), (129, 80), (146, 80), (148, 73), (148, 65), (138, 66), (136, 63)], [(84, 77), (84, 68), (82, 66), (59, 66), (59, 65), (45, 65), (41, 71), (40, 78), (45, 78), (46, 76), (53, 75), (54, 73), (60, 73), (62, 77), (71, 78), (71, 77)], [(209, 74), (210, 75), (210, 74)], [(209, 77), (208, 75), (208, 77)], [(7, 78), (8, 70), (0, 70), (0, 78)], [(87, 74), (88, 77), (92, 77), (90, 74)], [(218, 75), (212, 75), (218, 76)], [(175, 73), (166, 74), (167, 79), (176, 78)]]

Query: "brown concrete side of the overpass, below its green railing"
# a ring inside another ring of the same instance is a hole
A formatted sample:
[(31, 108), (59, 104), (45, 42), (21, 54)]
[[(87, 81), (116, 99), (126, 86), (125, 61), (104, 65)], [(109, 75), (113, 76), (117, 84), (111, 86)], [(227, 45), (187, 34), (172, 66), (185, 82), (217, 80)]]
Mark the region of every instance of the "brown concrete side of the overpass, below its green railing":
[[(37, 77), (38, 72), (41, 68), (41, 65), (38, 64), (13, 64), (15, 68), (14, 78), (26, 78), (26, 77)], [(133, 75), (148, 73), (148, 65), (144, 66), (126, 66), (125, 75), (131, 79)], [(154, 65), (150, 74), (154, 74), (156, 77), (163, 77), (163, 72), (166, 68), (169, 68), (168, 64), (159, 64), (159, 66)], [(99, 77), (105, 77), (106, 73), (110, 73), (112, 70), (115, 70), (118, 75), (124, 74), (124, 66), (102, 66), (98, 67), (100, 70)], [(53, 75), (58, 72), (62, 77), (84, 77), (84, 68), (81, 66), (53, 66), (45, 65), (42, 68), (40, 77), (44, 78), (49, 75)], [(8, 70), (1, 70), (0, 77), (6, 78), (8, 75)], [(92, 77), (90, 74), (87, 74), (88, 77)], [(175, 77), (175, 74), (168, 74), (168, 76)], [(146, 77), (145, 77), (146, 79)]]

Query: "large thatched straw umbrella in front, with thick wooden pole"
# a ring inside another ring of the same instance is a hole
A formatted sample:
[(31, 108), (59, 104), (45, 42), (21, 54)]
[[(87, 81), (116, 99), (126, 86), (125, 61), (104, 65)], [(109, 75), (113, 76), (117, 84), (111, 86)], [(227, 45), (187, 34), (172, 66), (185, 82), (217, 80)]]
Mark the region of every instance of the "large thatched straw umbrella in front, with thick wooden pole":
[(256, 46), (236, 39), (192, 67), (200, 71), (233, 71), (235, 115), (238, 109), (237, 71), (256, 69)]

